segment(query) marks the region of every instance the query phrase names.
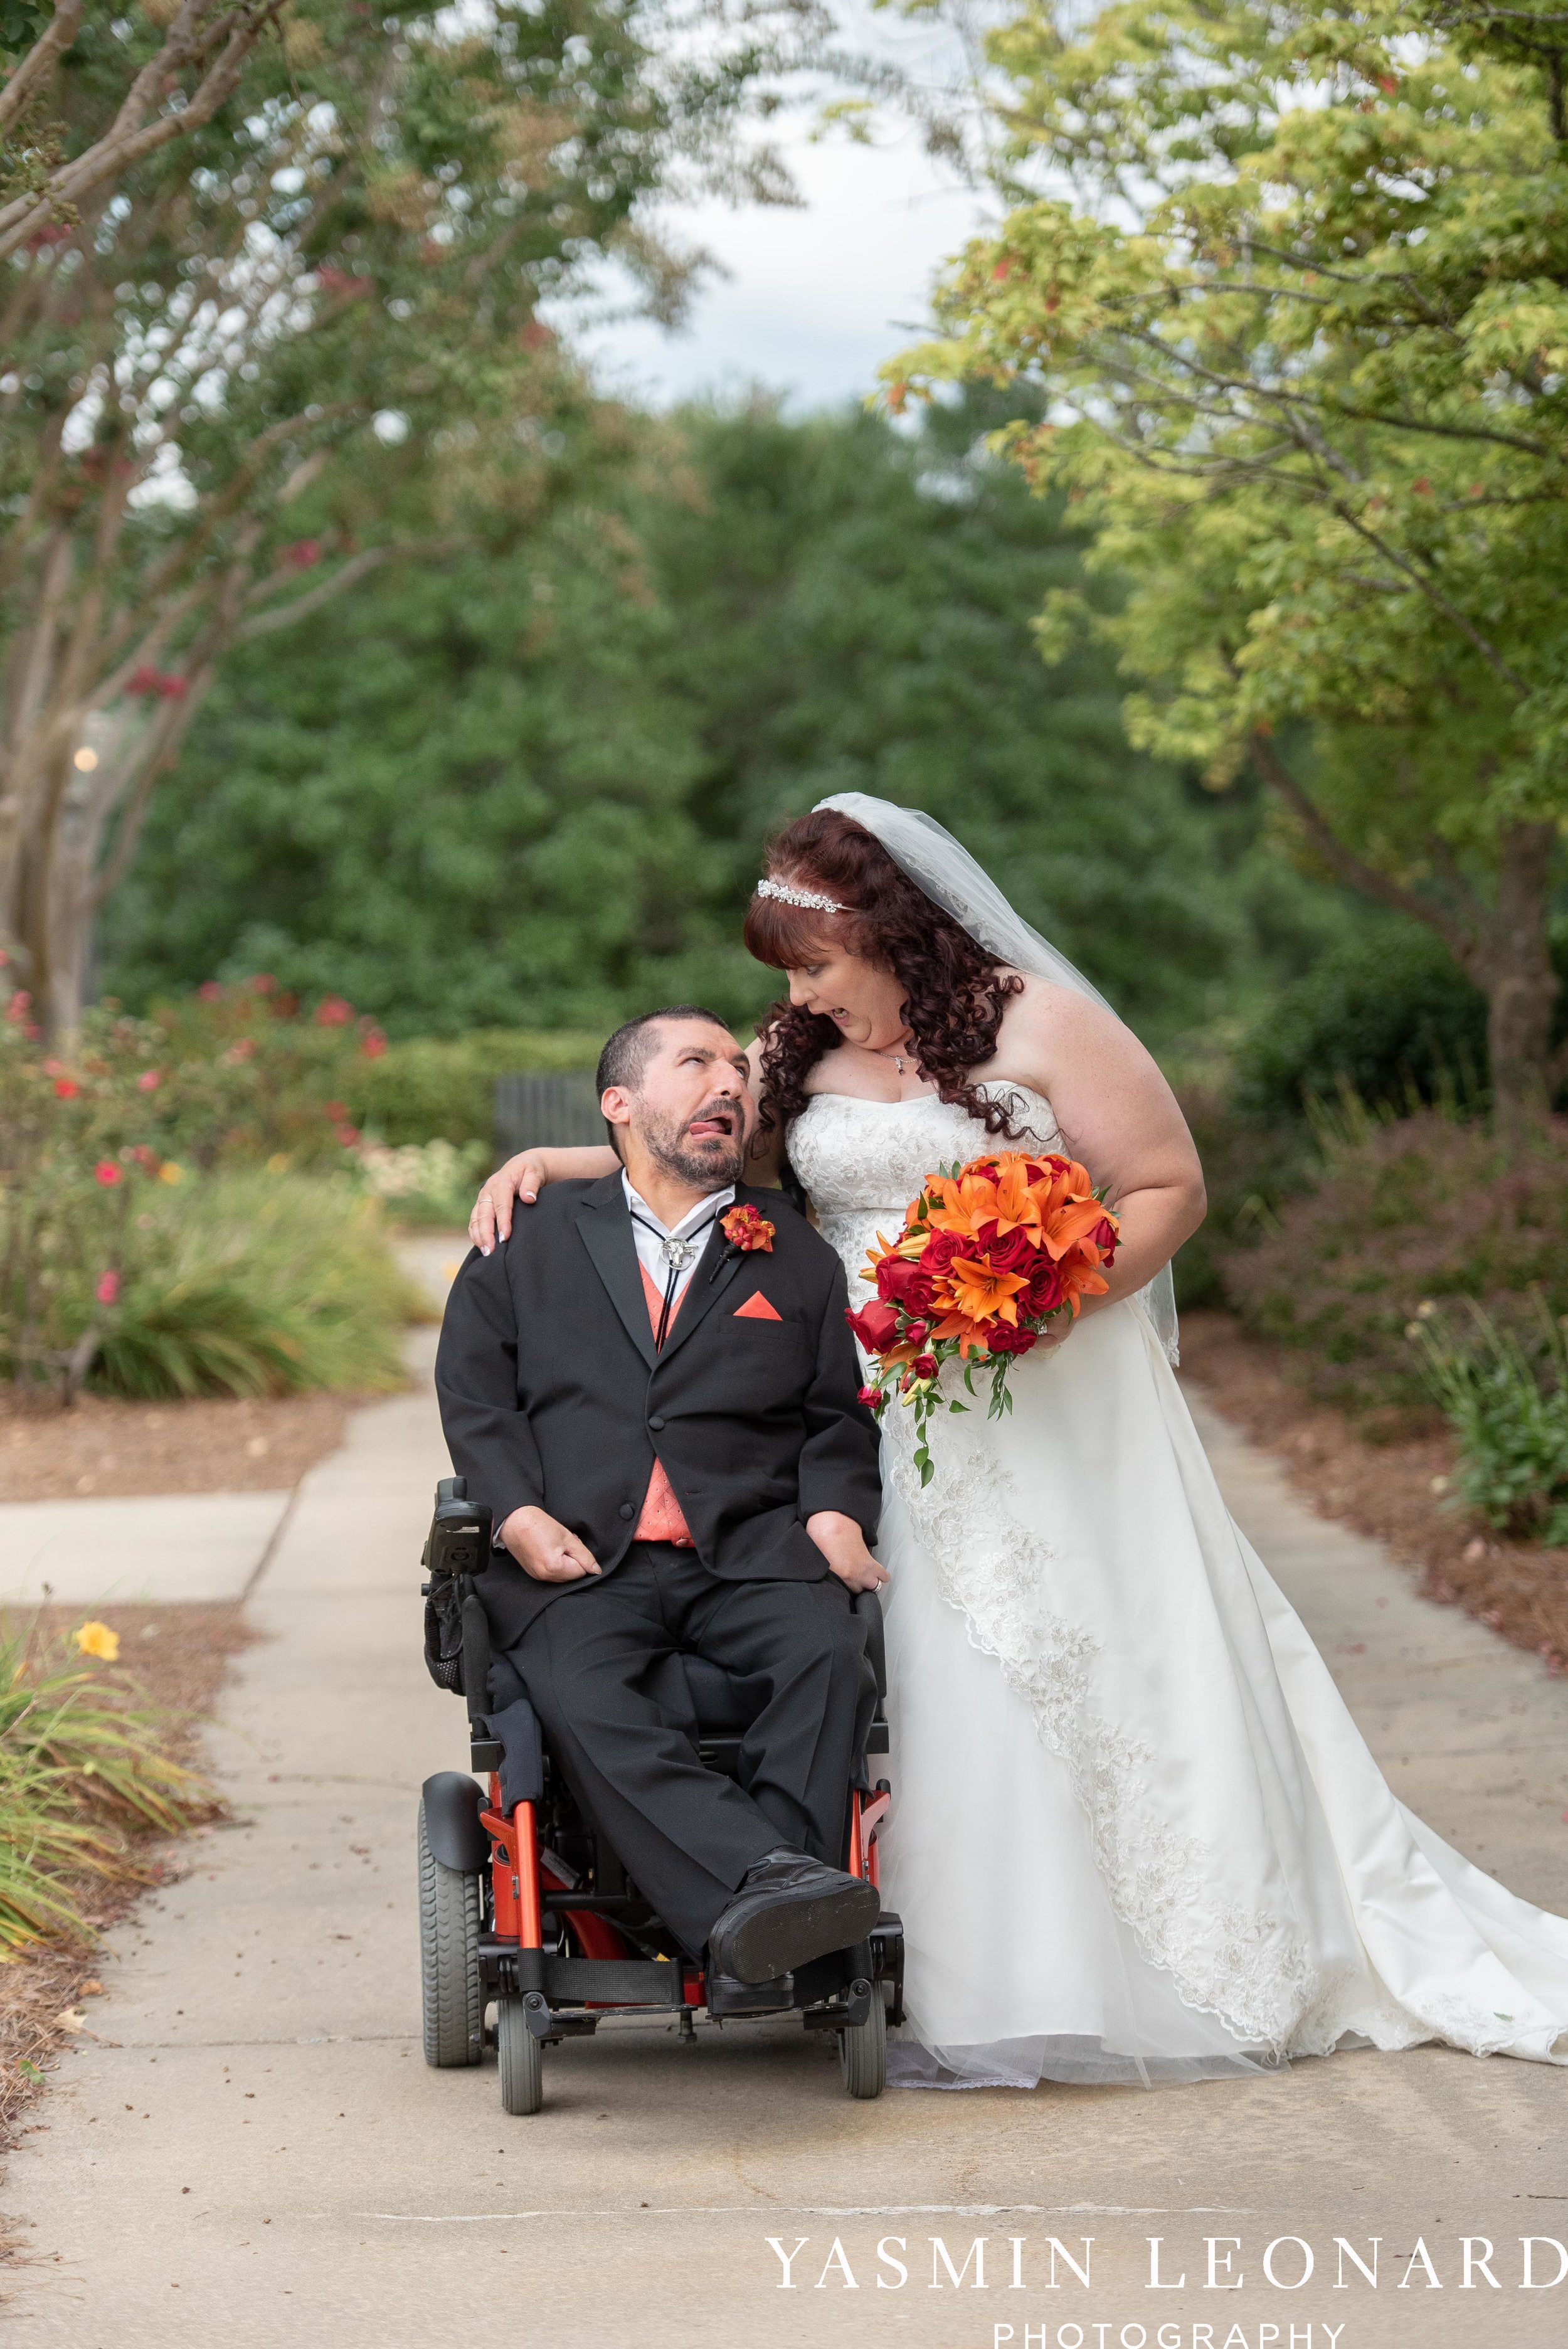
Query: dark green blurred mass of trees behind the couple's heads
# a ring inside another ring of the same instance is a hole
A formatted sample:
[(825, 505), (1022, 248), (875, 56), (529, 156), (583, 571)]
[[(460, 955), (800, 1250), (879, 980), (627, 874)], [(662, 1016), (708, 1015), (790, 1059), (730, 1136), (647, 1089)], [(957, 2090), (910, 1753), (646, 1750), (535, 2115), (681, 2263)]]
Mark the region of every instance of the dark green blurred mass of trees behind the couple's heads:
[[(106, 926), (131, 1003), (272, 972), (394, 1034), (603, 1027), (772, 991), (737, 944), (768, 827), (824, 792), (927, 806), (1155, 1036), (1340, 935), (1331, 890), (1127, 747), (1110, 655), (1028, 615), (1080, 536), (979, 444), (765, 402), (653, 435), (615, 514), (242, 646)], [(1096, 601), (1113, 590), (1096, 585)]]

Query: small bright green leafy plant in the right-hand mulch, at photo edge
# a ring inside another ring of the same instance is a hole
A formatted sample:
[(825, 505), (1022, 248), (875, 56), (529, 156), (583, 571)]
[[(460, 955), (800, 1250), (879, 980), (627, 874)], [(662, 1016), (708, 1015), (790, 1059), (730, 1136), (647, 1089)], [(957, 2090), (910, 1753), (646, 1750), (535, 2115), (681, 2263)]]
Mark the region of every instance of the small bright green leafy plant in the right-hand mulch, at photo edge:
[(1458, 1487), (1505, 1534), (1568, 1541), (1568, 1344), (1537, 1301), (1535, 1355), (1479, 1306), (1469, 1330), (1432, 1301), (1408, 1327), (1422, 1377), (1460, 1447)]

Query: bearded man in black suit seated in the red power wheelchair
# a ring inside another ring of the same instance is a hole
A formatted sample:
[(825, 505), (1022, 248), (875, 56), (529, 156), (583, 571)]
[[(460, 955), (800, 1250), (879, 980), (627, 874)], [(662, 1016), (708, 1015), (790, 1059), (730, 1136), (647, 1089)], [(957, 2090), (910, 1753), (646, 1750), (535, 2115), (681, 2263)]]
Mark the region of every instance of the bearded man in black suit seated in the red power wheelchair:
[[(465, 1579), (491, 1729), (538, 1717), (596, 1875), (622, 1875), (620, 1898), (570, 1898), (613, 1905), (685, 2006), (692, 1985), (714, 2018), (850, 1976), (864, 1992), (885, 1574), (843, 1268), (779, 1191), (739, 1182), (756, 1104), (709, 1012), (620, 1029), (599, 1088), (620, 1172), (549, 1182), (469, 1254), (441, 1330), (455, 1489), (493, 1529)], [(535, 1992), (535, 2044), (556, 2022)]]

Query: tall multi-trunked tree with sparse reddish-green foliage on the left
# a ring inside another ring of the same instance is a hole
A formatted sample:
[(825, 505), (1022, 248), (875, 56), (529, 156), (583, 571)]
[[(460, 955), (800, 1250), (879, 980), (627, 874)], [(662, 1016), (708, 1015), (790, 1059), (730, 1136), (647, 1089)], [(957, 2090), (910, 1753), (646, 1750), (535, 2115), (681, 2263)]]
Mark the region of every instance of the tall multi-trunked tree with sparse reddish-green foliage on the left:
[(779, 193), (742, 124), (807, 19), (699, 0), (695, 42), (683, 0), (54, 14), (0, 87), (0, 944), (52, 1031), (228, 646), (394, 557), (516, 538), (620, 460), (538, 305), (615, 254), (678, 308), (692, 256), (646, 204)]

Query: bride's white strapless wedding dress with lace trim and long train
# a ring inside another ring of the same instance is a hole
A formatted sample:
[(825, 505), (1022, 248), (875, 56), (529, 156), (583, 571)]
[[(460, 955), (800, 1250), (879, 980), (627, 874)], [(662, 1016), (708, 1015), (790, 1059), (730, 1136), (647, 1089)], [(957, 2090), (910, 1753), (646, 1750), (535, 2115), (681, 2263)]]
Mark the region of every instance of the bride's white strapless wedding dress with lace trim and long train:
[[(1005, 1090), (1049, 1149), (1049, 1104)], [(925, 1177), (998, 1146), (934, 1095), (807, 1102), (789, 1153), (852, 1301)], [(892, 2077), (1157, 2084), (1425, 2039), (1568, 2062), (1568, 1921), (1394, 1799), (1141, 1304), (1012, 1391), (932, 1421), (925, 1492), (885, 1423)]]

